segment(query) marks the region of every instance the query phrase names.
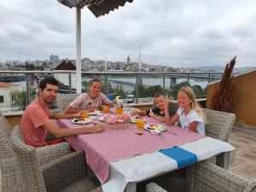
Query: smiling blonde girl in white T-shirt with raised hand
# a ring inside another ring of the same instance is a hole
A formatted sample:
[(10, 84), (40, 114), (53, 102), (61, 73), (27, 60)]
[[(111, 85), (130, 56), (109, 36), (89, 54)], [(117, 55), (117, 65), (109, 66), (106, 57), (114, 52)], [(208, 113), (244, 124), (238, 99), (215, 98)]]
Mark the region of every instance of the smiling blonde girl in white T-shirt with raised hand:
[(169, 102), (169, 100), (164, 101), (167, 125), (172, 125), (179, 119), (183, 129), (205, 135), (204, 115), (200, 105), (195, 101), (195, 93), (190, 87), (185, 86), (181, 90), (178, 90), (177, 105), (179, 108), (172, 118), (169, 113)]

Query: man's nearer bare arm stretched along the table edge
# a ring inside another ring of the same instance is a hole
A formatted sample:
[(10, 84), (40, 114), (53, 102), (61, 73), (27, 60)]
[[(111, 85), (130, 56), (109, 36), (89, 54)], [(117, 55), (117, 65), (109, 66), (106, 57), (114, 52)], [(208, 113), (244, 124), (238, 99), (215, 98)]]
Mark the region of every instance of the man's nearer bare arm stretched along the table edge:
[(61, 137), (71, 137), (71, 136), (77, 136), (80, 134), (87, 134), (87, 133), (96, 133), (96, 132), (102, 132), (103, 126), (101, 124), (96, 124), (91, 127), (86, 128), (77, 128), (77, 129), (67, 129), (67, 128), (61, 128), (55, 125), (54, 123), (48, 123), (42, 126), (45, 130), (52, 133), (55, 137), (61, 138)]

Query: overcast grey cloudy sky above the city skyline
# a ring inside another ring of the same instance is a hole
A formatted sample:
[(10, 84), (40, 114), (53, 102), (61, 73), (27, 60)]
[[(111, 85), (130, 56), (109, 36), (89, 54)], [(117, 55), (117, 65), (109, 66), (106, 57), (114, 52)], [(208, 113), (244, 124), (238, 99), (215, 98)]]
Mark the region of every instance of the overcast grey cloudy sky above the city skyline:
[[(133, 0), (82, 13), (82, 58), (170, 67), (255, 65), (255, 0)], [(76, 9), (57, 0), (0, 1), (0, 61), (76, 56)]]

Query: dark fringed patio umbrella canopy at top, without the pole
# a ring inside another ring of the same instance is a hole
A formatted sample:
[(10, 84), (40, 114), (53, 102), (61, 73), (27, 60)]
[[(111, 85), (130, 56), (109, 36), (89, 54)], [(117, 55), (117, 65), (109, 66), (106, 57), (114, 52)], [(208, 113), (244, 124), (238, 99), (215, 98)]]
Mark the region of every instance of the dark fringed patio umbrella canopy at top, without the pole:
[(109, 11), (119, 9), (119, 6), (124, 7), (126, 2), (132, 3), (132, 1), (133, 0), (58, 0), (58, 2), (69, 8), (78, 7), (83, 9), (84, 6), (87, 6), (96, 17), (108, 15)]

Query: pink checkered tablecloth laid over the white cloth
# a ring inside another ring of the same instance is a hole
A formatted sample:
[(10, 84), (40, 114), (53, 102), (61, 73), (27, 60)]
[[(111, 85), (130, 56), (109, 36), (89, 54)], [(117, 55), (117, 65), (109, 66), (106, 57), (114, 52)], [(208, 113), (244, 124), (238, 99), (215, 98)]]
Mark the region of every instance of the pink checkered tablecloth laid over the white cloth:
[[(146, 124), (160, 124), (154, 119), (148, 117), (145, 119), (147, 119)], [(72, 119), (59, 119), (58, 124), (70, 129), (81, 127), (74, 125)], [(172, 148), (204, 137), (177, 126), (167, 126), (167, 131), (162, 132), (160, 137), (146, 130), (143, 131), (143, 135), (137, 135), (136, 124), (127, 124), (125, 128), (119, 130), (111, 130), (108, 124), (102, 124), (105, 125), (105, 131), (101, 133), (66, 138), (75, 150), (84, 150), (86, 163), (101, 178), (102, 183), (107, 181), (109, 165), (113, 161)], [(84, 129), (90, 126), (91, 124), (86, 125)]]

